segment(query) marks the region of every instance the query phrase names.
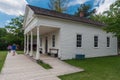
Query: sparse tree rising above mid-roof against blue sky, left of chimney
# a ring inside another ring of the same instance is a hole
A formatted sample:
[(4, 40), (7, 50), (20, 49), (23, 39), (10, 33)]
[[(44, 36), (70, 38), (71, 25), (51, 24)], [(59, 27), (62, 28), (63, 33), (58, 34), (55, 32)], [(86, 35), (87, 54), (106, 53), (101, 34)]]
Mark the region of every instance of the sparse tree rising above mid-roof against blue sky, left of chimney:
[(67, 3), (68, 0), (50, 0), (48, 6), (51, 10), (63, 13), (67, 11)]

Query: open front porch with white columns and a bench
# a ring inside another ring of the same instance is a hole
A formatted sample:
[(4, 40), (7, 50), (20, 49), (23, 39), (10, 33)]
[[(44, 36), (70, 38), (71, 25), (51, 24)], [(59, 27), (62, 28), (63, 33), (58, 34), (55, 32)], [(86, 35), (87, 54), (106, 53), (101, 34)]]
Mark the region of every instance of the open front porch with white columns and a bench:
[(24, 33), (24, 53), (39, 60), (41, 54), (59, 55), (60, 28), (37, 26)]

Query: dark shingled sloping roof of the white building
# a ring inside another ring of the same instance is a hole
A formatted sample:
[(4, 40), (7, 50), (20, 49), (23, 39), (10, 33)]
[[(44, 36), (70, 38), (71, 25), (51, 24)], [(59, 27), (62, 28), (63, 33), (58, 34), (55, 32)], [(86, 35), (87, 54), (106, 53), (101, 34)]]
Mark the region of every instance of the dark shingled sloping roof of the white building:
[(40, 8), (40, 7), (36, 7), (36, 6), (32, 6), (32, 5), (27, 5), (27, 6), (30, 7), (33, 10), (35, 15), (44, 15), (44, 16), (56, 17), (56, 18), (61, 18), (61, 19), (67, 19), (67, 20), (92, 24), (92, 25), (96, 25), (96, 26), (104, 26), (105, 25), (101, 22), (94, 21), (94, 20), (91, 20), (91, 19), (87, 19), (87, 18), (84, 18), (84, 17), (77, 17), (77, 16), (74, 16), (74, 15), (60, 13), (60, 12), (57, 12), (57, 11), (44, 9), (44, 8)]

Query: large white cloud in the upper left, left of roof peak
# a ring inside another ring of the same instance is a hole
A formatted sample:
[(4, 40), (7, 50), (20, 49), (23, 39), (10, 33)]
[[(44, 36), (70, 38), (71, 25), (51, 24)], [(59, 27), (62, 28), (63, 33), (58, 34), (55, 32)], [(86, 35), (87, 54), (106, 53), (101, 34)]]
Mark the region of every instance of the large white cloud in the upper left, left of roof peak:
[(24, 14), (26, 0), (0, 0), (0, 12), (7, 15)]

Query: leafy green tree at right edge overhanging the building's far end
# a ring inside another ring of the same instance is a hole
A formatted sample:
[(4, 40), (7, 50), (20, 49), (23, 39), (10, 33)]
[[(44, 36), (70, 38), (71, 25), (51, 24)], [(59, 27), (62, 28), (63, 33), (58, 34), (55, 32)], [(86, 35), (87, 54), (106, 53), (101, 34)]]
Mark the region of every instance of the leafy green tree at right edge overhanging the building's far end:
[(110, 10), (104, 12), (107, 15), (105, 30), (112, 32), (120, 39), (120, 0), (117, 0), (110, 6)]

